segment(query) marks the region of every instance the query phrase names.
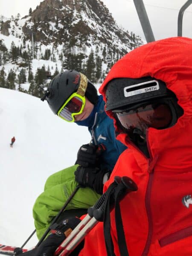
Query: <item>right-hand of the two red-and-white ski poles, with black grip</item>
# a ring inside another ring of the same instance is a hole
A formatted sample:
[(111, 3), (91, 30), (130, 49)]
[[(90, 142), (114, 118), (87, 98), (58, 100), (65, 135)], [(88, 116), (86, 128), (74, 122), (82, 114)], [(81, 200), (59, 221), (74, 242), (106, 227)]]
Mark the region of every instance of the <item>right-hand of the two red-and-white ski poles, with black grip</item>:
[[(115, 179), (118, 180), (119, 183), (119, 176), (116, 176)], [(128, 193), (132, 191), (137, 191), (137, 185), (134, 183), (133, 180), (130, 178), (124, 176), (121, 179), (121, 185), (124, 185), (124, 191), (122, 191), (121, 199), (125, 197)], [(118, 186), (118, 185), (117, 185)], [(116, 189), (115, 186), (113, 190)], [(70, 243), (67, 244), (67, 247), (63, 247), (63, 251), (59, 254), (59, 256), (67, 256), (69, 255), (76, 247), (77, 245), (84, 239), (84, 237), (87, 235), (87, 233), (90, 232), (90, 230), (93, 229), (93, 227), (96, 226), (96, 224), (102, 220), (102, 215), (104, 212), (105, 207), (105, 201), (99, 207), (99, 209), (94, 209), (93, 211), (93, 218), (90, 219), (90, 221), (87, 222), (87, 224), (83, 227), (83, 229), (75, 236), (75, 238), (70, 241)], [(113, 205), (111, 206), (111, 210), (113, 209)], [(65, 241), (65, 240), (64, 240)], [(55, 251), (56, 252), (56, 251)], [(57, 254), (54, 254), (54, 256)]]

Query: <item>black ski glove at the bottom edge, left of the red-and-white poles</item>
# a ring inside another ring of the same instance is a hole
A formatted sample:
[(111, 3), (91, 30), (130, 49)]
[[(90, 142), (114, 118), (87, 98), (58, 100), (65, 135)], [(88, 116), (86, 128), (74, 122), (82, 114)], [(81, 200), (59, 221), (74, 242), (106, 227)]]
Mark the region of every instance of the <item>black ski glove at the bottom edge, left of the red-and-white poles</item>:
[[(47, 239), (38, 247), (26, 253), (19, 254), (19, 256), (53, 256), (57, 247), (66, 239), (80, 221), (79, 218), (73, 217), (62, 221), (61, 224), (53, 224), (53, 229), (51, 230), (51, 234), (47, 236)], [(78, 255), (83, 245), (84, 242), (81, 242), (70, 255)]]

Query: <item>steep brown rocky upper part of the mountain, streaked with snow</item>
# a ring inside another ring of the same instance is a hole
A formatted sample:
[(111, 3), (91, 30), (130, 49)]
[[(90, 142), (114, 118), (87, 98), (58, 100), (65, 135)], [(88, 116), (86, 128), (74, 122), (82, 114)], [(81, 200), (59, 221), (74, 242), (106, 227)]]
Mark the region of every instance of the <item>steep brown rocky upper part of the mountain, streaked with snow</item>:
[(30, 40), (33, 33), (35, 41), (45, 45), (68, 42), (83, 47), (103, 43), (111, 49), (122, 45), (119, 50), (125, 53), (143, 44), (140, 38), (119, 29), (100, 0), (44, 0), (22, 29), (26, 39)]

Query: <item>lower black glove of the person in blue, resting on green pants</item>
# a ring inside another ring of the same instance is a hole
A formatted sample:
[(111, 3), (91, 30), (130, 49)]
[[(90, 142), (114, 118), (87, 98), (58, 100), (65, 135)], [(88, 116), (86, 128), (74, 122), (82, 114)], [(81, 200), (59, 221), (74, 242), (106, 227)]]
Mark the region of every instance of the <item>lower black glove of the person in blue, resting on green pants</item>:
[(106, 171), (99, 169), (98, 167), (83, 167), (78, 166), (75, 171), (75, 180), (80, 185), (90, 187), (98, 194), (103, 192), (103, 176)]

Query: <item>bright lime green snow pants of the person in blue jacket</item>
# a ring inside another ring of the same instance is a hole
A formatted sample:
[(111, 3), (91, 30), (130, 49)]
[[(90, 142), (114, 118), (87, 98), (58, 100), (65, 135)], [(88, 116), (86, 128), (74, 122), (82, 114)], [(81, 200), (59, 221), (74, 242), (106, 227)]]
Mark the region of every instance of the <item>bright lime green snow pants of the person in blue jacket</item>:
[[(52, 218), (55, 217), (72, 194), (78, 183), (74, 172), (78, 165), (70, 166), (48, 177), (44, 192), (38, 196), (33, 206), (33, 218), (38, 239), (41, 239)], [(80, 188), (69, 202), (66, 210), (88, 209), (100, 195), (90, 188)]]

